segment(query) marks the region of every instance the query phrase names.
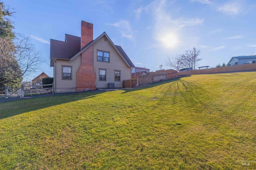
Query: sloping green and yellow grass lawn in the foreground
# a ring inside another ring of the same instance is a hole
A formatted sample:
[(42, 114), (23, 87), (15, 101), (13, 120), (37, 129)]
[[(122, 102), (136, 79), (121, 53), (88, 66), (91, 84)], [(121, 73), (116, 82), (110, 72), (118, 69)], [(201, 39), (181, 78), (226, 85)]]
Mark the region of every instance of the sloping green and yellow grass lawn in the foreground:
[(255, 84), (193, 75), (0, 103), (0, 169), (256, 169)]

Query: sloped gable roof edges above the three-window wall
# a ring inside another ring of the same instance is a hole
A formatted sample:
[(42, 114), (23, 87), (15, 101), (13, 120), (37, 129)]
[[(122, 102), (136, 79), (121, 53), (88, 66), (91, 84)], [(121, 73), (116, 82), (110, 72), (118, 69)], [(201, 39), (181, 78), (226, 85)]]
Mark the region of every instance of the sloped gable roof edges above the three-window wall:
[(84, 51), (86, 51), (86, 49), (88, 49), (89, 47), (91, 47), (92, 45), (94, 45), (99, 39), (101, 39), (103, 36), (106, 36), (106, 38), (108, 39), (108, 41), (112, 44), (112, 46), (114, 47), (114, 49), (116, 49), (117, 53), (122, 57), (122, 59), (126, 62), (126, 64), (130, 67), (135, 67), (134, 64), (132, 63), (132, 61), (129, 59), (129, 57), (126, 55), (126, 53), (124, 52), (124, 50), (122, 49), (121, 46), (118, 45), (114, 45), (114, 43), (111, 41), (111, 39), (108, 37), (108, 35), (106, 34), (106, 32), (102, 33), (100, 36), (98, 36), (96, 39), (94, 39), (93, 41), (91, 41), (88, 45), (86, 45), (85, 47), (83, 47), (78, 53), (76, 53), (73, 57), (70, 58), (70, 61), (74, 60), (76, 57), (78, 57), (80, 54), (82, 54)]

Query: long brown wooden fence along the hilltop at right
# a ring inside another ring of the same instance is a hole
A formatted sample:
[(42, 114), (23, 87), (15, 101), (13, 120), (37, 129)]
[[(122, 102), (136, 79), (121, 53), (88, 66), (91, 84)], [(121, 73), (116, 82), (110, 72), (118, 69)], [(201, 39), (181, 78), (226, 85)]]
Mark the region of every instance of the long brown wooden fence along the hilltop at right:
[(200, 69), (200, 70), (190, 70), (190, 71), (181, 71), (179, 75), (184, 74), (213, 74), (213, 73), (224, 73), (224, 72), (240, 72), (240, 71), (250, 71), (256, 70), (256, 63), (253, 64), (243, 64), (237, 66), (225, 66), (225, 67), (217, 67), (217, 68), (208, 68), (208, 69)]

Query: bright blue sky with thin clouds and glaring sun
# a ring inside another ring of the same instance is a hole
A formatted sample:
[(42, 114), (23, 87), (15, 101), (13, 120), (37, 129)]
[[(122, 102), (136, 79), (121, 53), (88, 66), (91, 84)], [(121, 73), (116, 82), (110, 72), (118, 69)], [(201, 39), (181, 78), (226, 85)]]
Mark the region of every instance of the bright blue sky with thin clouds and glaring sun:
[[(81, 21), (94, 25), (94, 39), (106, 32), (138, 67), (159, 70), (167, 56), (200, 50), (197, 66), (215, 67), (232, 57), (256, 55), (256, 0), (3, 0), (14, 32), (30, 36), (50, 68), (50, 39), (80, 37)], [(170, 69), (164, 66), (163, 69)]]

